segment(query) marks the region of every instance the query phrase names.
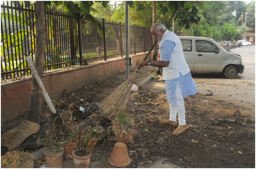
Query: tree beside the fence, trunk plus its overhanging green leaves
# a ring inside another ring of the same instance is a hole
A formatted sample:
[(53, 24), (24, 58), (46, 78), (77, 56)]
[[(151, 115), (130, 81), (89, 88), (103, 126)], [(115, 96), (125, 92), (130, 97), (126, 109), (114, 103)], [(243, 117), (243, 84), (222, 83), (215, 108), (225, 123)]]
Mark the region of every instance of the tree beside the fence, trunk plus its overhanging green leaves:
[[(106, 7), (109, 1), (98, 1)], [(44, 11), (45, 7), (61, 6), (63, 9), (70, 13), (80, 13), (82, 16), (93, 18), (90, 15), (90, 11), (93, 10), (91, 6), (93, 1), (80, 1), (74, 3), (73, 1), (37, 1), (35, 8), (35, 27), (36, 27), (36, 47), (35, 47), (35, 68), (38, 71), (39, 77), (42, 79), (43, 67), (44, 67), (44, 54), (46, 47), (46, 32)], [(31, 93), (31, 106), (30, 114), (31, 120), (39, 122), (42, 115), (42, 93), (41, 89), (35, 82), (35, 78), (32, 78), (32, 93)]]

